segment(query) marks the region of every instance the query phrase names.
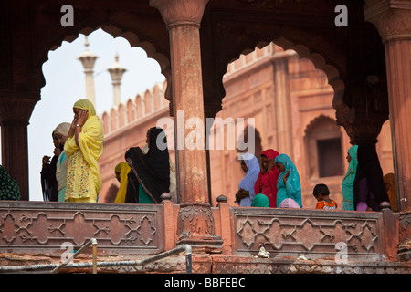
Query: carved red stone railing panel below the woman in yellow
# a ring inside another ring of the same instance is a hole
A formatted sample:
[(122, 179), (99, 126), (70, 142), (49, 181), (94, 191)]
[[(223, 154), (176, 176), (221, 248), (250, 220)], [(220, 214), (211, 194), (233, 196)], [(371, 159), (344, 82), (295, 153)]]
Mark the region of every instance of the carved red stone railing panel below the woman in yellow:
[(107, 254), (157, 254), (163, 221), (163, 205), (1, 202), (0, 253), (61, 254), (94, 237)]

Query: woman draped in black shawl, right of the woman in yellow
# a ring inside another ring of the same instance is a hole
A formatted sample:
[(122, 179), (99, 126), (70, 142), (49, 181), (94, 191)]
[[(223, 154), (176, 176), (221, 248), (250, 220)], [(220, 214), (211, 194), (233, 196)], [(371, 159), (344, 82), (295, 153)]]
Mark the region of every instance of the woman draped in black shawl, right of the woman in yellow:
[(170, 162), (165, 132), (153, 127), (147, 131), (149, 151), (132, 147), (125, 153), (131, 171), (128, 174), (125, 203), (160, 203), (170, 192)]

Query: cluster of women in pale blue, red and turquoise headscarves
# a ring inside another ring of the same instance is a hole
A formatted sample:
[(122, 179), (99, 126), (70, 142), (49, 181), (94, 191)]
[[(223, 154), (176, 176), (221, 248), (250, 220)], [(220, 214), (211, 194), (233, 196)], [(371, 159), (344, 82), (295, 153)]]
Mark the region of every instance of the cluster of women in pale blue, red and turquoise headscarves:
[(240, 157), (246, 173), (236, 193), (240, 206), (302, 208), (300, 174), (287, 154), (263, 151), (261, 165), (253, 154)]

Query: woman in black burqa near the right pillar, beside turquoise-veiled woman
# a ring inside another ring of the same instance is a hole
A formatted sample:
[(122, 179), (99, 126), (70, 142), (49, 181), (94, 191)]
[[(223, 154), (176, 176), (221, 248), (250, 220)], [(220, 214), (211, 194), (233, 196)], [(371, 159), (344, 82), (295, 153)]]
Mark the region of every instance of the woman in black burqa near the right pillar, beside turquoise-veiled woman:
[(356, 211), (380, 211), (380, 204), (389, 202), (375, 146), (361, 143), (357, 150), (357, 173), (353, 183)]

